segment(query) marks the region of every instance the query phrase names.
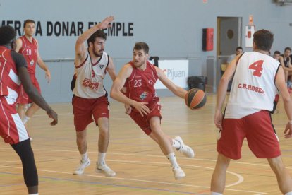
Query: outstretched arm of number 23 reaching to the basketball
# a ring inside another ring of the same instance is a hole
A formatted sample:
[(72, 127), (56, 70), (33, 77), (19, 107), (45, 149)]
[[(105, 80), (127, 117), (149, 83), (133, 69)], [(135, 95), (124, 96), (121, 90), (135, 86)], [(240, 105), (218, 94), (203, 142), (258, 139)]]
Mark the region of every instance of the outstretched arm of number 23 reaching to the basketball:
[(154, 67), (157, 71), (159, 80), (162, 81), (162, 83), (166, 86), (166, 88), (171, 90), (171, 92), (177, 95), (178, 97), (185, 98), (185, 94), (187, 93), (187, 91), (179, 87), (178, 85), (174, 84), (173, 82), (171, 82), (169, 78), (167, 78), (166, 75), (163, 73), (162, 69), (159, 69), (156, 66)]

